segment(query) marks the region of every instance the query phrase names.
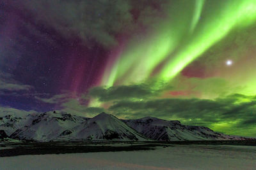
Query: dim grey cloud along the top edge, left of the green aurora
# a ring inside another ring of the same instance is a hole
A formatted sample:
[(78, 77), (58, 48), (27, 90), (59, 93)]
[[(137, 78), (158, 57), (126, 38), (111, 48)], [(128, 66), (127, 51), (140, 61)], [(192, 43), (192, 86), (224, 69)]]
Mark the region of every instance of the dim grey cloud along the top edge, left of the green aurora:
[[(164, 1), (8, 1), (15, 10), (26, 10), (43, 24), (66, 38), (96, 41), (105, 47), (116, 45), (120, 32), (131, 36), (141, 27), (152, 26), (160, 18)], [(42, 15), (44, 13), (44, 15)]]

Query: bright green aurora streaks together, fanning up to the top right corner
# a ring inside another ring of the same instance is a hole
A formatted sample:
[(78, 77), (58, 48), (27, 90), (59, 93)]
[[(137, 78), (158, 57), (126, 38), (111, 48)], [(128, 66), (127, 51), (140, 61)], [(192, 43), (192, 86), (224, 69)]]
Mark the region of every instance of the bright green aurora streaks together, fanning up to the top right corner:
[(164, 18), (148, 36), (127, 43), (101, 85), (137, 83), (152, 75), (170, 81), (230, 31), (256, 20), (255, 0), (175, 1), (163, 8)]

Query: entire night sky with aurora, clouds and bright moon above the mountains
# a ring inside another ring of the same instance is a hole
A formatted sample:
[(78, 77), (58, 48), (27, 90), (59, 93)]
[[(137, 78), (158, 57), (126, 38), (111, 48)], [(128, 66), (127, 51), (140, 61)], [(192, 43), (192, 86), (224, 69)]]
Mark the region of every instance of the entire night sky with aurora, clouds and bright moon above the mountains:
[(0, 114), (158, 117), (256, 136), (255, 0), (1, 0)]

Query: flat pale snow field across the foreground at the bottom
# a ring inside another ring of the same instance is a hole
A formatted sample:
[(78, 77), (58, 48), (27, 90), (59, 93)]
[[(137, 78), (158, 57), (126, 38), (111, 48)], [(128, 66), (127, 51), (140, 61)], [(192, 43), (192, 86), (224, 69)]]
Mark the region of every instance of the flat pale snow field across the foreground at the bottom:
[(1, 157), (0, 169), (256, 169), (255, 146), (171, 145), (133, 152)]

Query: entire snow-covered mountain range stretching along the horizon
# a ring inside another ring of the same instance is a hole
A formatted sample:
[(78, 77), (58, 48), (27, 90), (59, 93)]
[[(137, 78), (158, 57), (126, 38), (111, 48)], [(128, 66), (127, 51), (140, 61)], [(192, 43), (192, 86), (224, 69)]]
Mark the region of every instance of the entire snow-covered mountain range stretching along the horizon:
[[(31, 113), (24, 117), (0, 117), (0, 138), (33, 141), (184, 141), (246, 139), (214, 132), (207, 127), (182, 125), (179, 121), (145, 117), (120, 120), (100, 113), (86, 118), (67, 113)], [(4, 136), (4, 137), (3, 137)]]

